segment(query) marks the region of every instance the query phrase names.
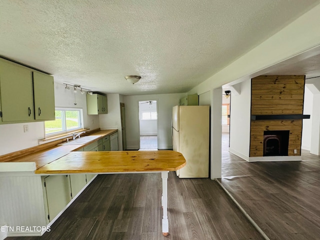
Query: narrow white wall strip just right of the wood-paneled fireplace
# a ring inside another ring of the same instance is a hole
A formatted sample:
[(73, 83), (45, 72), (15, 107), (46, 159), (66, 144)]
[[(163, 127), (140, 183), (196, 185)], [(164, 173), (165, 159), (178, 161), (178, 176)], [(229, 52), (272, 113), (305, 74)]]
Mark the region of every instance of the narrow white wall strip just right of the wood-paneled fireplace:
[(305, 149), (305, 150), (310, 150), (312, 108), (313, 108), (313, 93), (309, 90), (308, 84), (305, 84), (304, 101), (303, 101), (303, 114), (310, 115), (310, 119), (303, 119), (302, 120), (301, 148)]

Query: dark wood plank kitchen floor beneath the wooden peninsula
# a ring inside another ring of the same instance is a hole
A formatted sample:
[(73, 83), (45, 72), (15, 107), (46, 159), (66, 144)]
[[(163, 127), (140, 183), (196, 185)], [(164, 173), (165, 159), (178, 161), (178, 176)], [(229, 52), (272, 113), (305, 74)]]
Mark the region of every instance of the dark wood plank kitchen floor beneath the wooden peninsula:
[(161, 234), (160, 173), (99, 175), (41, 237), (13, 239), (263, 239), (218, 183), (168, 177)]

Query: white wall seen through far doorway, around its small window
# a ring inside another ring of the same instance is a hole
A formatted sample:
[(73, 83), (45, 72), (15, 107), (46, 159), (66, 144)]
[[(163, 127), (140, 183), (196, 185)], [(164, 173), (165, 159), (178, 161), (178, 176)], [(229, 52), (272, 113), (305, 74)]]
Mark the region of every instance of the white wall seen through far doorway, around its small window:
[[(150, 99), (152, 100), (152, 99)], [(149, 105), (145, 101), (139, 102), (139, 127), (140, 135), (157, 135), (157, 120), (142, 120), (142, 111), (156, 111), (156, 101)]]

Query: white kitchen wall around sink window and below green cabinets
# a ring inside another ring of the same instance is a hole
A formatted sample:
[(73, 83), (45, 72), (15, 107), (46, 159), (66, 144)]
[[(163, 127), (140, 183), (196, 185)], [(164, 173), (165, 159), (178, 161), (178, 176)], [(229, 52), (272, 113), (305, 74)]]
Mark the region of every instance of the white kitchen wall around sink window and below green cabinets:
[[(54, 83), (55, 106), (76, 107), (83, 109), (83, 123), (85, 128), (99, 127), (97, 115), (86, 114), (86, 96), (76, 93), (74, 106), (73, 91), (66, 90), (64, 85)], [(93, 120), (93, 123), (92, 123)], [(28, 125), (29, 131), (23, 132), (23, 125)], [(38, 139), (44, 138), (44, 122), (27, 122), (0, 125), (0, 155), (18, 151), (38, 145)]]

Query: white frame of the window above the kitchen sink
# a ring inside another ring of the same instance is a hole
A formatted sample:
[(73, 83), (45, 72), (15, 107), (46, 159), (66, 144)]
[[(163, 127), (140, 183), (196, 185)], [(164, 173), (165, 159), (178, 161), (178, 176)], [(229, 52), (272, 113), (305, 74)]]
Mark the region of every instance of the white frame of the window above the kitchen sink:
[[(55, 107), (54, 111), (62, 111), (61, 112), (61, 120), (62, 120), (62, 130), (61, 131), (55, 131), (55, 132), (50, 132), (50, 133), (46, 133), (46, 127), (45, 127), (45, 122), (44, 122), (44, 135), (45, 137), (50, 137), (50, 136), (55, 136), (55, 135), (61, 135), (61, 134), (66, 134), (68, 132), (72, 132), (72, 131), (76, 131), (76, 130), (80, 130), (83, 129), (83, 111), (82, 108), (75, 108), (75, 107)], [(66, 126), (66, 117), (65, 117), (65, 112), (66, 111), (78, 111), (78, 126), (71, 128), (71, 129), (67, 129)]]

